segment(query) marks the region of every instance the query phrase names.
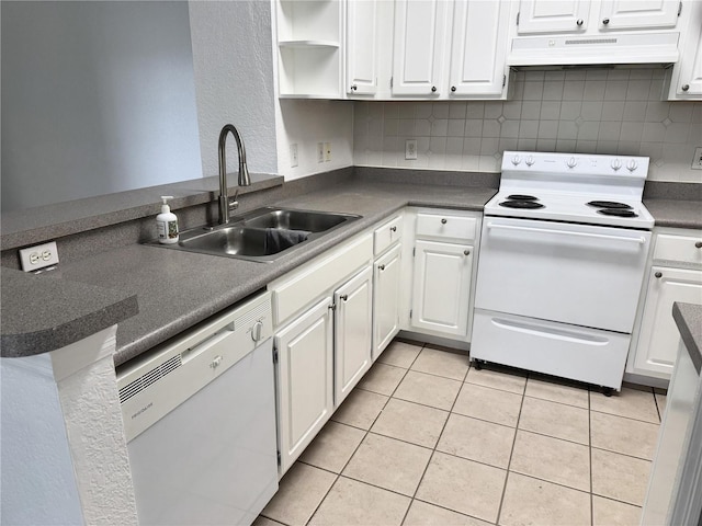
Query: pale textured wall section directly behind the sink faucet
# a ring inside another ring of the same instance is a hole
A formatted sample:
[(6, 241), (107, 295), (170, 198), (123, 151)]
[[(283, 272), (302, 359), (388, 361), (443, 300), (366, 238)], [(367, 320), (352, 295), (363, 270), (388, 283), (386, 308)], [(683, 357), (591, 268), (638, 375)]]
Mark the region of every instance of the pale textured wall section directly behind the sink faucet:
[[(275, 116), (271, 3), (191, 1), (202, 169), (218, 173), (219, 130), (234, 124), (244, 138), (252, 172), (275, 173)], [(227, 139), (227, 171), (237, 172), (237, 149)]]

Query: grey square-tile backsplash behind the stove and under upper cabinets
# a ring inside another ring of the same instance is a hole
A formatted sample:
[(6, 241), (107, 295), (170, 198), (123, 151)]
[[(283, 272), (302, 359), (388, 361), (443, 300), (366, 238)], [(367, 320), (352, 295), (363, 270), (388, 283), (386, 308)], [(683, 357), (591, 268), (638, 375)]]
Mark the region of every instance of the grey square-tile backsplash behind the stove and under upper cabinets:
[[(520, 71), (509, 101), (354, 103), (353, 162), (499, 172), (502, 151), (645, 156), (648, 179), (702, 183), (702, 102), (660, 100), (661, 69)], [(417, 160), (405, 140), (417, 139)]]

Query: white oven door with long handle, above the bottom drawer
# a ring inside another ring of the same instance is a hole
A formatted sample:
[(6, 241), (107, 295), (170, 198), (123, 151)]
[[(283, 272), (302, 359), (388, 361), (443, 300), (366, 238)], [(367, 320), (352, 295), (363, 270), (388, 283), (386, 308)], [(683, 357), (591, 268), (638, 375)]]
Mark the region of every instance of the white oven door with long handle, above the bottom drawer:
[(650, 232), (486, 217), (475, 308), (631, 333)]

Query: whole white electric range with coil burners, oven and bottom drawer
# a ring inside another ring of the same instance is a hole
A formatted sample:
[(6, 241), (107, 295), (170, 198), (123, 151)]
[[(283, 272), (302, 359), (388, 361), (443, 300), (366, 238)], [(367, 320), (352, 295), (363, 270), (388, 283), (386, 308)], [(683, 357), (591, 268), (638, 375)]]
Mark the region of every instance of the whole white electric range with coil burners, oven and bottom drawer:
[(620, 389), (654, 219), (648, 158), (506, 151), (485, 205), (471, 359)]

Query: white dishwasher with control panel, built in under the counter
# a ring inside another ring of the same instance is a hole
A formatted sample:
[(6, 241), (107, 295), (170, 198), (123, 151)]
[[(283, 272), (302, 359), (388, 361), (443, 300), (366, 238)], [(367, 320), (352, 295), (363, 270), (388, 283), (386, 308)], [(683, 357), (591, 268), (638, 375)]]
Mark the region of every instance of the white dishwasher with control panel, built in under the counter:
[(117, 368), (139, 524), (251, 524), (278, 491), (271, 295)]

